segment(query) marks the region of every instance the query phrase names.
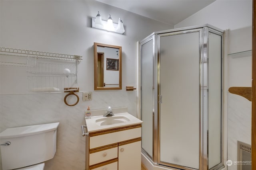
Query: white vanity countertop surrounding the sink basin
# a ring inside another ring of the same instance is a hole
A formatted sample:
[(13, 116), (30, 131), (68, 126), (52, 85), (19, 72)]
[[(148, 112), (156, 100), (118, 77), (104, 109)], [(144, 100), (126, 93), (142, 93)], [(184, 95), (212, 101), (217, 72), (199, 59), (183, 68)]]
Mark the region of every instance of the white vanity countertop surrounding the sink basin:
[[(121, 117), (121, 116), (126, 117), (127, 119), (129, 119), (129, 121), (117, 123), (117, 124), (113, 124), (113, 125), (98, 125), (98, 123), (96, 123), (96, 120), (98, 120), (98, 119), (102, 119), (102, 118), (106, 118), (106, 119), (110, 118), (111, 119), (111, 117), (113, 119), (114, 117)], [(87, 132), (91, 133), (91, 132), (95, 132), (95, 131), (102, 131), (102, 130), (112, 129), (112, 128), (116, 128), (116, 127), (124, 127), (124, 126), (141, 124), (143, 121), (141, 121), (137, 117), (134, 117), (130, 113), (125, 112), (125, 113), (117, 113), (117, 114), (114, 114), (114, 116), (110, 116), (110, 117), (103, 117), (103, 115), (93, 116), (93, 117), (89, 117), (89, 118), (86, 117), (85, 122), (87, 125)]]

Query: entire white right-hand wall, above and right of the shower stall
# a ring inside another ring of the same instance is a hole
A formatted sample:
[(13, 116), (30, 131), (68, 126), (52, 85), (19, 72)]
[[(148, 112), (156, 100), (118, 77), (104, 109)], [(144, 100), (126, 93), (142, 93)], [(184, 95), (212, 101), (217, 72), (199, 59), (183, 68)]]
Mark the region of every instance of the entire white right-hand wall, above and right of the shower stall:
[[(230, 86), (251, 86), (252, 63), (250, 58), (243, 57), (239, 59), (241, 61), (234, 61), (240, 63), (234, 68), (234, 62), (228, 62), (230, 60), (228, 54), (252, 49), (252, 0), (216, 0), (174, 27), (203, 25), (205, 23), (223, 30), (229, 29), (229, 31), (225, 31), (224, 36), (223, 156), (226, 165), (227, 159), (237, 160), (237, 141), (242, 140), (242, 142), (250, 144), (251, 140), (251, 102), (241, 96), (228, 93), (228, 88)], [(234, 72), (236, 69), (240, 71)], [(230, 72), (228, 72), (229, 70)], [(240, 74), (236, 74), (237, 72)], [(245, 74), (240, 76), (241, 72)], [(228, 170), (236, 170), (237, 165), (233, 164), (227, 168)]]

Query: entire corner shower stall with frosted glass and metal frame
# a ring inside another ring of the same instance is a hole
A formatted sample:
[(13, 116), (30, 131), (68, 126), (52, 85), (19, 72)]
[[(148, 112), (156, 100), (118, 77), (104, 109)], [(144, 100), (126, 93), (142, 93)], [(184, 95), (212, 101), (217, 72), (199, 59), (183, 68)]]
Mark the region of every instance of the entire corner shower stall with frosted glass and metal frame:
[(222, 162), (223, 30), (154, 32), (140, 41), (142, 153), (157, 166), (215, 170)]

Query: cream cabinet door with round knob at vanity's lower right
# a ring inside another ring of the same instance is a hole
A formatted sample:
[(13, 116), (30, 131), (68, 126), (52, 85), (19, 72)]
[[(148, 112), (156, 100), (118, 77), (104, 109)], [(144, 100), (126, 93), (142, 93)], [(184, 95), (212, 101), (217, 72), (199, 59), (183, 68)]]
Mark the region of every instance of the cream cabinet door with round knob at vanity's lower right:
[(118, 170), (141, 169), (141, 141), (120, 144), (118, 147)]

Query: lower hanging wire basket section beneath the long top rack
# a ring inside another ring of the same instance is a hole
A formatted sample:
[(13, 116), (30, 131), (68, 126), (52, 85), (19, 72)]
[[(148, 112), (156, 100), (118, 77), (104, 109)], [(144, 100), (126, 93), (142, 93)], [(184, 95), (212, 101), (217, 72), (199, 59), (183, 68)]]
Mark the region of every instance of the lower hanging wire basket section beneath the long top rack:
[(27, 76), (30, 92), (78, 90), (77, 61), (50, 60), (28, 57)]

